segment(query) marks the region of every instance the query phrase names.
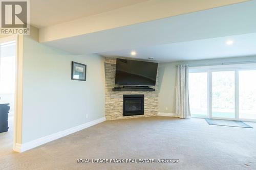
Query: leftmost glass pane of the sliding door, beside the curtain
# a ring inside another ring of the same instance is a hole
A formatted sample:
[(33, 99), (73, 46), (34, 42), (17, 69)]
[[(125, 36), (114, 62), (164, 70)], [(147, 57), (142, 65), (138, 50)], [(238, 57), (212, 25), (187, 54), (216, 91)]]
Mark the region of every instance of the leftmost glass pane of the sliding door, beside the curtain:
[(207, 116), (207, 72), (189, 73), (189, 105), (193, 117)]

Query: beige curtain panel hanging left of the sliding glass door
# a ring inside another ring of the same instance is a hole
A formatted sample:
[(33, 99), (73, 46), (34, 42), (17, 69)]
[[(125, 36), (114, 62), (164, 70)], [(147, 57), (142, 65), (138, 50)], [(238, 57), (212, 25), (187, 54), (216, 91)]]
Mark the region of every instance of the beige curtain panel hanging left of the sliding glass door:
[(188, 100), (188, 65), (178, 65), (177, 68), (176, 117), (190, 117)]

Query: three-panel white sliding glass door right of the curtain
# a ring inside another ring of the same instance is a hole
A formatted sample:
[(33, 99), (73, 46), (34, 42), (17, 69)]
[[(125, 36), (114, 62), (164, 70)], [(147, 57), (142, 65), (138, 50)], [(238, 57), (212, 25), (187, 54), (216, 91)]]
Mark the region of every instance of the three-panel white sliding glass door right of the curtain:
[(192, 117), (256, 121), (255, 77), (255, 65), (190, 69)]

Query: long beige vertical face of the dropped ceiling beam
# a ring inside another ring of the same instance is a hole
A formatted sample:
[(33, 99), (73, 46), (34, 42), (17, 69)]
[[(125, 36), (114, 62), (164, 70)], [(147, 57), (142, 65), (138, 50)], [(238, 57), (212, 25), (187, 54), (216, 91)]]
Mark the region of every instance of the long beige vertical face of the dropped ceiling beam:
[[(49, 27), (40, 28), (40, 42), (53, 41), (82, 34), (120, 28), (134, 25), (136, 23), (143, 23), (150, 20), (177, 16), (190, 12), (196, 12), (241, 2), (247, 2), (247, 0), (145, 1), (89, 17), (83, 17)], [(51, 7), (49, 8), (51, 9)], [(54, 18), (56, 18), (56, 16)], [(144, 30), (144, 32), (145, 31), (146, 30)], [(156, 34), (156, 32), (154, 32), (154, 34)], [(123, 36), (124, 35), (122, 35), (122, 37)]]

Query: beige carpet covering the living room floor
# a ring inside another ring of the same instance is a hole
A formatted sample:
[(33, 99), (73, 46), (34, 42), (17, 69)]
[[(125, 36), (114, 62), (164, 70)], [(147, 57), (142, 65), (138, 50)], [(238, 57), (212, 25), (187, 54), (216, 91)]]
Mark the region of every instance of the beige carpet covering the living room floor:
[[(107, 121), (36, 149), (0, 157), (0, 169), (256, 169), (256, 124), (147, 117)], [(179, 159), (179, 164), (77, 164), (76, 159)]]

